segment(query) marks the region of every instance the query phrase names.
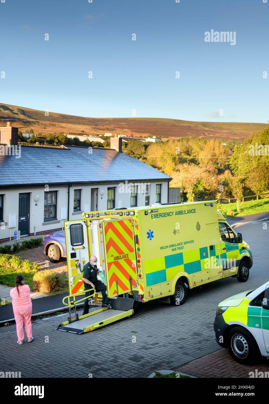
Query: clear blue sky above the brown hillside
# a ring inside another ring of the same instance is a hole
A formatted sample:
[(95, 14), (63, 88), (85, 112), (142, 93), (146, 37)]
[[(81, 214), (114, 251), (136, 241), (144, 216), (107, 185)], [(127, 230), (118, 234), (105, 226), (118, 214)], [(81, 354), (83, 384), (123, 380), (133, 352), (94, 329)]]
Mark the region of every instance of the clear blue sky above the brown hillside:
[[(269, 120), (269, 0), (1, 1), (2, 103), (90, 117)], [(211, 29), (236, 32), (236, 44), (205, 42)]]

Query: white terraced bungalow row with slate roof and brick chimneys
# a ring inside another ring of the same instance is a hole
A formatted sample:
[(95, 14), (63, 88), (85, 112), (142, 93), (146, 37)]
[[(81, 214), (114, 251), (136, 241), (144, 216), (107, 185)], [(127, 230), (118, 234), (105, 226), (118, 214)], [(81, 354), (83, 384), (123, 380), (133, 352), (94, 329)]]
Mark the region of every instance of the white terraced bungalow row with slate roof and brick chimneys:
[[(84, 211), (167, 203), (171, 177), (110, 149), (18, 146), (18, 128), (0, 127), (0, 242), (62, 229)], [(18, 149), (19, 148), (19, 149)]]

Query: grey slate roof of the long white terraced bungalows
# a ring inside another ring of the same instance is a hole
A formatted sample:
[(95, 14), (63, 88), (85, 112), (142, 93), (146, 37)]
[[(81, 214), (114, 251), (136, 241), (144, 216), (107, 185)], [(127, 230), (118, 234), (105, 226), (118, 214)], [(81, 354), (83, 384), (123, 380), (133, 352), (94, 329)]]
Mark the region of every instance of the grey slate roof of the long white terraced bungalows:
[(21, 146), (21, 157), (0, 156), (0, 187), (169, 180), (171, 177), (112, 149)]

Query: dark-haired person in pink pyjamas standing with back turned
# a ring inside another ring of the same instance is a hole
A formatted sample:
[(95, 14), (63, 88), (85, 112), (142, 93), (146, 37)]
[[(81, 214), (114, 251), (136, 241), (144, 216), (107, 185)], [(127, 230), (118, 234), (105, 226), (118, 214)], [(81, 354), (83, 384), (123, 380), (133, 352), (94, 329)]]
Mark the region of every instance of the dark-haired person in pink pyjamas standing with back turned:
[(28, 337), (28, 342), (32, 342), (32, 301), (30, 299), (30, 288), (24, 284), (24, 276), (18, 275), (16, 277), (16, 287), (11, 289), (10, 295), (12, 297), (13, 312), (16, 321), (17, 336), (19, 345), (23, 344), (23, 323)]

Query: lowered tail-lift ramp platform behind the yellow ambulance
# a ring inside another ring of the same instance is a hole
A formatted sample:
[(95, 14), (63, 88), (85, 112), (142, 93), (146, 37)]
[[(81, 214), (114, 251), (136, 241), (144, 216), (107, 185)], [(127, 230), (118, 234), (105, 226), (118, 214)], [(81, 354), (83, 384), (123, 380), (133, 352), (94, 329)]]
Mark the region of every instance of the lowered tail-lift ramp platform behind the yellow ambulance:
[(111, 299), (111, 309), (91, 306), (89, 314), (78, 317), (78, 320), (66, 321), (59, 324), (56, 330), (83, 334), (112, 322), (129, 317), (133, 314), (133, 299), (117, 297)]

